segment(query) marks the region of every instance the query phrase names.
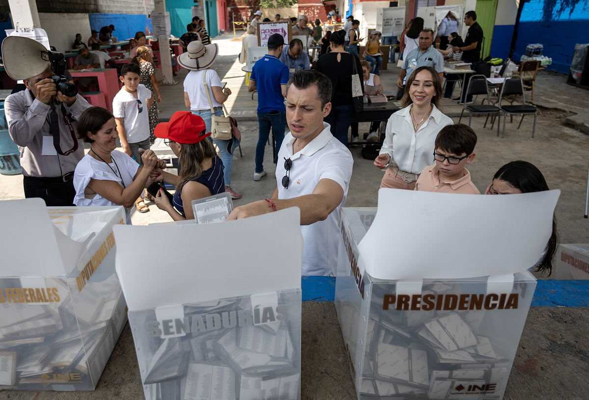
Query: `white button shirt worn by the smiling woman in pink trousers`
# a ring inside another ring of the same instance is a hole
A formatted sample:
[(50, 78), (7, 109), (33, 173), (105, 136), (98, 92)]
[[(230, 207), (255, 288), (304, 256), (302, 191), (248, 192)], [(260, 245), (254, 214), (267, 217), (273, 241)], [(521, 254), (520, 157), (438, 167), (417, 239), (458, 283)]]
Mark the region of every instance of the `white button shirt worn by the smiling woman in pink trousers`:
[(386, 123), (385, 142), (379, 154), (391, 156), (391, 165), (399, 167), (399, 170), (419, 175), (423, 168), (432, 165), (434, 143), (439, 131), (454, 122), (432, 104), (429, 118), (415, 132), (409, 114), (411, 107), (413, 105), (391, 115)]

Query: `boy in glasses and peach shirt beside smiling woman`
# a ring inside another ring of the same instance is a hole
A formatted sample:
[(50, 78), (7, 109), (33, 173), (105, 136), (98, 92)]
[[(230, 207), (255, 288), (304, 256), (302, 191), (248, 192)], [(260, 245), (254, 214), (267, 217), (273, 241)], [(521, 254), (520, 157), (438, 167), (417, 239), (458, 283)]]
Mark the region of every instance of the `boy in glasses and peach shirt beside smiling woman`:
[(415, 190), (439, 193), (481, 194), (465, 168), (475, 158), (477, 135), (465, 124), (446, 125), (435, 141), (435, 165), (425, 167)]

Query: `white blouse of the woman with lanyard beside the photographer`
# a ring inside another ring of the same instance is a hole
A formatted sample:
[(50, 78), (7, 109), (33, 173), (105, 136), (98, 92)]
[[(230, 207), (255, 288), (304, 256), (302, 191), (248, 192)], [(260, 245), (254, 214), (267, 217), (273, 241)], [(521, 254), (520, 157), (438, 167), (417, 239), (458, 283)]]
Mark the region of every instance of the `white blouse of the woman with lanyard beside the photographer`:
[[(121, 187), (123, 187), (123, 183), (125, 184), (124, 187), (129, 187), (129, 185), (133, 183), (133, 178), (139, 170), (139, 164), (137, 164), (133, 158), (118, 150), (112, 150), (111, 159), (113, 162), (108, 165), (90, 156), (90, 154), (86, 154), (80, 160), (78, 165), (75, 167), (74, 172), (74, 204), (76, 206), (121, 205), (112, 203), (112, 201), (105, 199), (98, 193), (95, 194), (94, 198), (92, 199), (87, 199), (86, 195), (84, 194), (84, 190), (86, 190), (86, 187), (88, 186), (88, 183), (90, 183), (91, 179), (115, 181), (120, 184)], [(108, 166), (110, 166), (110, 168)], [(127, 224), (131, 224), (131, 214), (129, 209), (125, 208), (125, 213), (127, 214)]]

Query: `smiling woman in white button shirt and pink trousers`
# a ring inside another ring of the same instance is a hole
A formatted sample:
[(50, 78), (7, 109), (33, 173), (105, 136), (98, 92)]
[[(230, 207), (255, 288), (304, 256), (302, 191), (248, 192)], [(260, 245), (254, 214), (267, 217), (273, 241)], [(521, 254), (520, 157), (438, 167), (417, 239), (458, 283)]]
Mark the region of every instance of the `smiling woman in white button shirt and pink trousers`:
[(374, 165), (386, 168), (380, 187), (413, 190), (423, 168), (432, 163), (438, 132), (453, 122), (439, 110), (442, 84), (434, 68), (416, 68), (405, 87), (403, 108), (386, 123), (385, 141)]

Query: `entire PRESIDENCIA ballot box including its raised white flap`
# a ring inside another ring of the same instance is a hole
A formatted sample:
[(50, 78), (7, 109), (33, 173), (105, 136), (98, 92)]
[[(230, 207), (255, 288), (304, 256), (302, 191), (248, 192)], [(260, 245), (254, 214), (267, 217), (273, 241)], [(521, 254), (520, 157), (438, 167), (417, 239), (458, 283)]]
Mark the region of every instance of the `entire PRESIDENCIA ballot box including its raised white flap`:
[(342, 209), (335, 301), (358, 399), (502, 398), (558, 193), (380, 189), (378, 210)]

